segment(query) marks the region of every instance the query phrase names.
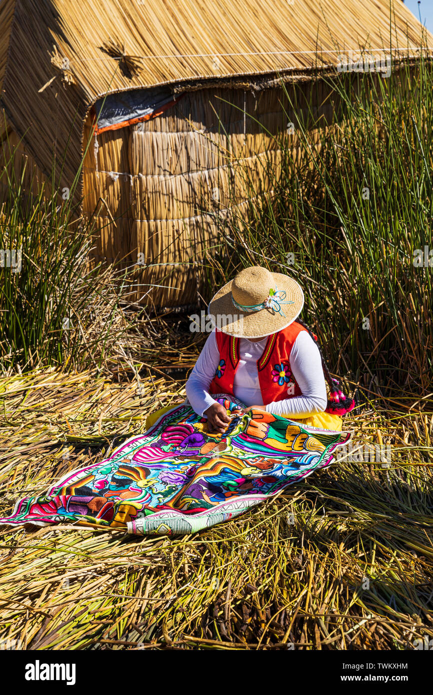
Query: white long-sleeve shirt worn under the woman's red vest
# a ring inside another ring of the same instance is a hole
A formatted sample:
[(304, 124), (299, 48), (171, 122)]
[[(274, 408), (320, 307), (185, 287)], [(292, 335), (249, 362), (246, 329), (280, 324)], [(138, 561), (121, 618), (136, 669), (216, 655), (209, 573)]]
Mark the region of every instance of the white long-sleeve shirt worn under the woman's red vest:
[[(264, 405), (257, 360), (261, 358), (267, 340), (268, 338), (263, 338), (263, 341), (252, 343), (247, 338), (240, 338), (239, 363), (234, 377), (233, 392), (246, 406)], [(203, 415), (204, 411), (216, 402), (209, 393), (209, 386), (219, 362), (220, 351), (213, 331), (186, 382), (186, 395), (198, 415)], [(293, 344), (290, 367), (302, 395), (267, 403), (265, 410), (276, 415), (298, 417), (324, 411), (327, 406), (327, 393), (322, 361), (318, 347), (307, 331), (301, 331)], [(291, 384), (287, 386), (290, 388)]]

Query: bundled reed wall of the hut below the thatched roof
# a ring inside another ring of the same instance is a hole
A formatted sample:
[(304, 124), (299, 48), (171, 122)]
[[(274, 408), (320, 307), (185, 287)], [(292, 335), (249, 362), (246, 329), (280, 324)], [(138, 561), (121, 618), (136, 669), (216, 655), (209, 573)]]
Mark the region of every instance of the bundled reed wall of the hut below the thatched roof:
[[(218, 245), (216, 217), (242, 215), (252, 190), (269, 188), (278, 174), (279, 133), (309, 108), (332, 113), (322, 81), (288, 85), (255, 94), (217, 88), (188, 92), (154, 120), (86, 137), (84, 208), (100, 238), (97, 256), (123, 259), (138, 268), (136, 296), (147, 301), (188, 304), (197, 298), (199, 266)], [(297, 136), (288, 133), (297, 152)]]

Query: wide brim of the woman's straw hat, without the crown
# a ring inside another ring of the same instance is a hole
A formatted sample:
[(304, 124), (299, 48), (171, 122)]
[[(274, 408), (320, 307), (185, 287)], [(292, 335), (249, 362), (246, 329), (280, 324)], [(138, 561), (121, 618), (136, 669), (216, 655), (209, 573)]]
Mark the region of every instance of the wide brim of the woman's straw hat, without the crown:
[(223, 333), (236, 338), (264, 338), (272, 333), (277, 333), (290, 326), (300, 315), (304, 306), (304, 292), (296, 280), (281, 272), (271, 273), (275, 287), (279, 291), (286, 292), (285, 302), (293, 304), (281, 304), (281, 316), (271, 309), (260, 309), (254, 313), (236, 309), (231, 300), (231, 284), (227, 282), (211, 299), (208, 313), (213, 327), (217, 327)]

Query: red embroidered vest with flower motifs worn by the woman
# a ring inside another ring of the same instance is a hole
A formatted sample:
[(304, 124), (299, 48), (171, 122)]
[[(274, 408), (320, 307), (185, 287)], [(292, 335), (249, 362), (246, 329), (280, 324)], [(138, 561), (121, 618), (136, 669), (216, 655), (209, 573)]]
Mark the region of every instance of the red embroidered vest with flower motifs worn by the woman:
[[(291, 323), (282, 331), (268, 336), (263, 354), (257, 360), (263, 404), (301, 395), (302, 391), (292, 375), (290, 354), (297, 336), (304, 330), (299, 323)], [(209, 386), (209, 393), (234, 395), (233, 384), (239, 363), (240, 338), (228, 336), (218, 328), (215, 330), (215, 337), (220, 351), (220, 363)]]

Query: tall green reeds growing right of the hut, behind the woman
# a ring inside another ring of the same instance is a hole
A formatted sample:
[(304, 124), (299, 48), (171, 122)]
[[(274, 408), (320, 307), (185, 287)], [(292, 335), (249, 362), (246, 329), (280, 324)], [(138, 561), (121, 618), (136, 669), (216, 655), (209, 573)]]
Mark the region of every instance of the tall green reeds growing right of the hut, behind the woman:
[(334, 368), (423, 398), (433, 373), (432, 63), (327, 83), (327, 104), (316, 103), (318, 82), (302, 101), (282, 84), (295, 134), (275, 136), (281, 167), (262, 157), (265, 183), (244, 170), (249, 208), (222, 218), (209, 285), (252, 263), (290, 273)]

